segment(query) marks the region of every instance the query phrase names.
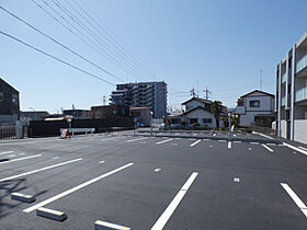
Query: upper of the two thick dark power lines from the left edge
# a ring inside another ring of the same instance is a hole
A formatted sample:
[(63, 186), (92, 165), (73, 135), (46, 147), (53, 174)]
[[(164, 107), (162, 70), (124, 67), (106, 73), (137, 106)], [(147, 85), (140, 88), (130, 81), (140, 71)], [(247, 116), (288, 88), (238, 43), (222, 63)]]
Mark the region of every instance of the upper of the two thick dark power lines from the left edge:
[(36, 31), (37, 33), (44, 35), (45, 37), (47, 37), (48, 39), (53, 41), (54, 43), (56, 43), (57, 45), (61, 46), (62, 48), (65, 48), (66, 50), (69, 50), (70, 53), (72, 53), (73, 55), (76, 55), (77, 57), (83, 59), (84, 61), (91, 64), (92, 66), (96, 67), (98, 69), (102, 70), (103, 72), (112, 76), (113, 78), (123, 81), (122, 79), (117, 78), (116, 76), (114, 76), (113, 73), (109, 72), (107, 70), (105, 70), (104, 68), (98, 66), (96, 64), (92, 62), (91, 60), (89, 60), (88, 58), (79, 55), (78, 53), (76, 53), (75, 50), (72, 50), (71, 48), (69, 48), (68, 46), (61, 44), (60, 42), (56, 41), (55, 38), (50, 37), (49, 35), (47, 35), (46, 33), (39, 31), (38, 28), (36, 28), (35, 26), (31, 25), (30, 23), (25, 22), (24, 20), (22, 20), (21, 18), (19, 18), (18, 15), (13, 14), (12, 12), (10, 12), (9, 10), (4, 9), (3, 7), (0, 7), (0, 10), (9, 13), (11, 16), (13, 16), (14, 19), (19, 20), (20, 22), (24, 23), (25, 25), (27, 25), (29, 27), (31, 27), (32, 30)]

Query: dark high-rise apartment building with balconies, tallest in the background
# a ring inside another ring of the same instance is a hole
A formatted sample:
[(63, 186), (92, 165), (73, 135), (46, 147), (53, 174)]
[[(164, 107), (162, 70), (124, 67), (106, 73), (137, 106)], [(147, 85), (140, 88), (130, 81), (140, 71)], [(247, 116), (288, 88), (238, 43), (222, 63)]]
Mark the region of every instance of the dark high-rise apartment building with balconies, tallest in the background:
[(163, 81), (117, 84), (111, 104), (149, 107), (155, 118), (162, 118), (167, 116), (167, 93)]

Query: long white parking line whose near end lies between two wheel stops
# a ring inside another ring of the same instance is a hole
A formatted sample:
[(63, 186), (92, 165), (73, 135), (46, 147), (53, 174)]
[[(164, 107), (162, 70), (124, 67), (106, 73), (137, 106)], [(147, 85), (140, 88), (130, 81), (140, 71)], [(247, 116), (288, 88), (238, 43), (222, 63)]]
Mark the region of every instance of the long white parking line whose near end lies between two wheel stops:
[(59, 198), (61, 198), (64, 196), (67, 196), (67, 195), (71, 194), (71, 193), (73, 193), (76, 191), (79, 191), (79, 189), (81, 189), (81, 188), (83, 188), (83, 187), (86, 187), (86, 186), (88, 186), (90, 184), (93, 184), (93, 183), (95, 183), (95, 182), (98, 182), (98, 181), (100, 181), (100, 180), (102, 180), (104, 177), (107, 177), (107, 176), (110, 176), (112, 174), (115, 174), (115, 173), (117, 173), (117, 172), (120, 172), (120, 171), (122, 171), (122, 170), (124, 170), (124, 169), (126, 169), (128, 166), (132, 166), (132, 165), (134, 165), (134, 163), (127, 163), (127, 164), (125, 164), (123, 166), (120, 166), (120, 168), (117, 168), (115, 170), (112, 170), (112, 171), (110, 171), (107, 173), (104, 173), (104, 174), (102, 174), (100, 176), (96, 176), (96, 177), (94, 177), (94, 179), (92, 179), (90, 181), (87, 181), (87, 182), (84, 182), (84, 183), (82, 183), (82, 184), (80, 184), (80, 185), (78, 185), (76, 187), (72, 187), (72, 188), (70, 188), (68, 191), (65, 191), (65, 192), (62, 192), (62, 193), (60, 193), (60, 194), (58, 194), (56, 196), (53, 196), (53, 197), (50, 197), (50, 198), (48, 198), (48, 199), (46, 199), (44, 202), (41, 202), (37, 205), (31, 206), (31, 207), (24, 209), (23, 211), (29, 214), (29, 212), (31, 212), (33, 210), (36, 210), (37, 208), (41, 208), (41, 207), (43, 207), (43, 206), (45, 206), (47, 204), (50, 204), (50, 203), (53, 203), (53, 202), (55, 202), (55, 200), (57, 200), (57, 199), (59, 199)]

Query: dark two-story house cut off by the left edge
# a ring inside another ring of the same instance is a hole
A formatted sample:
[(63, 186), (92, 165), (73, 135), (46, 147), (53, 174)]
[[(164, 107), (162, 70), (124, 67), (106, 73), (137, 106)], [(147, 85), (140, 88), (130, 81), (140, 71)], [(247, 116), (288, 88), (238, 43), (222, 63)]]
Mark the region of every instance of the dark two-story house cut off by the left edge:
[(15, 125), (19, 116), (19, 91), (0, 78), (0, 126)]

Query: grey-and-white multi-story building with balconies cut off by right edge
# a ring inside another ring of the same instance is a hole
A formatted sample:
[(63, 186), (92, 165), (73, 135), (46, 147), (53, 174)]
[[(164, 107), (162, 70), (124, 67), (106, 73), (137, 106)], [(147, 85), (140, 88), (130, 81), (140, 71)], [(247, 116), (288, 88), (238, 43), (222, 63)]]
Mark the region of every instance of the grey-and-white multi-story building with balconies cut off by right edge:
[(307, 143), (307, 33), (276, 66), (277, 135)]

